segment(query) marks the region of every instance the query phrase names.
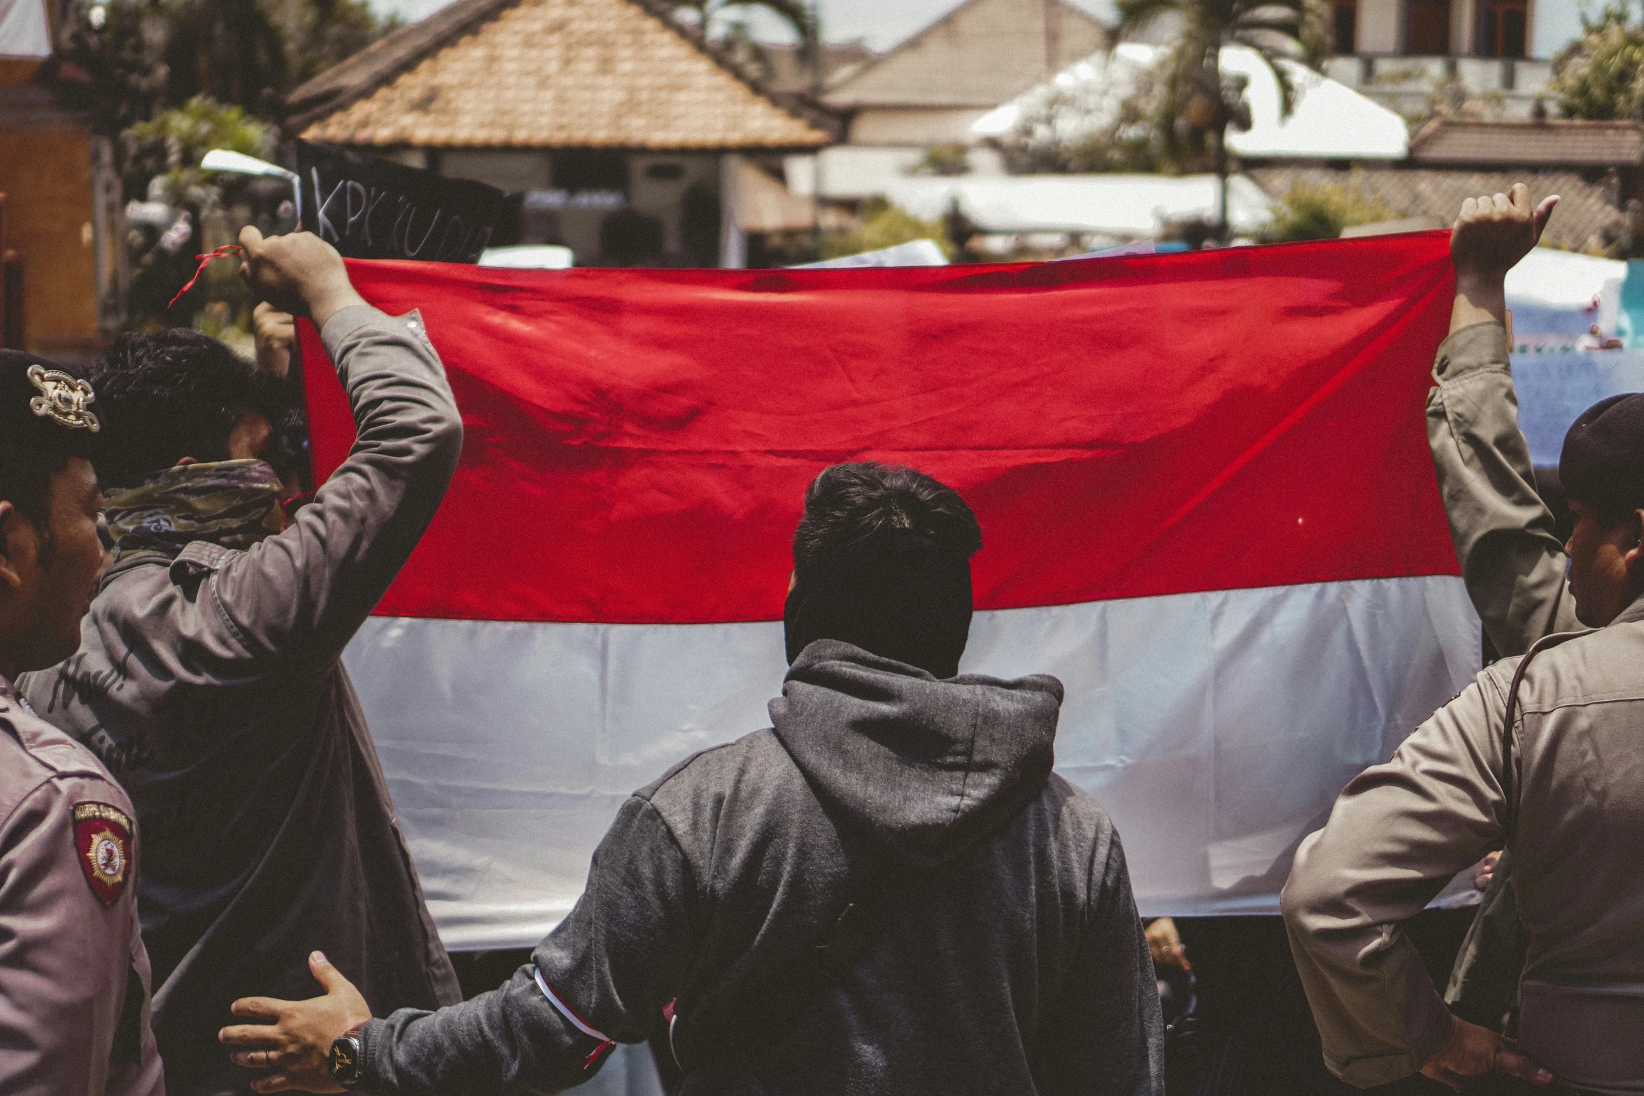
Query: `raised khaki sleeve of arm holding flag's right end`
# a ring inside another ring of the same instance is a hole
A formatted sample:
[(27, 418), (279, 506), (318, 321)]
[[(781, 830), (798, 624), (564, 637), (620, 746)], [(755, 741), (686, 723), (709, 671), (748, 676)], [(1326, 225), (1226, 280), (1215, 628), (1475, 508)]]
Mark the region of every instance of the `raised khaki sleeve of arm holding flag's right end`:
[(1577, 631), (1563, 546), (1535, 493), (1531, 450), (1501, 324), (1463, 327), (1438, 347), (1427, 444), (1462, 578), (1485, 634), (1504, 656)]

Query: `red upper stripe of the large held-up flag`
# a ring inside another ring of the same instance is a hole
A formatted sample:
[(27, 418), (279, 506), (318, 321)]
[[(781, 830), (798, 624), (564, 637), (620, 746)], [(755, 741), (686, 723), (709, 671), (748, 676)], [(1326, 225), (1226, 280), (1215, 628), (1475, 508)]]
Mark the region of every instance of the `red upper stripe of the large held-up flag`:
[[(781, 618), (801, 493), (911, 463), (975, 506), (985, 610), (1453, 575), (1424, 429), (1447, 233), (1075, 263), (350, 263), (421, 309), (462, 465), (378, 606)], [(306, 360), (324, 350), (304, 332)], [(309, 368), (316, 468), (353, 440)]]

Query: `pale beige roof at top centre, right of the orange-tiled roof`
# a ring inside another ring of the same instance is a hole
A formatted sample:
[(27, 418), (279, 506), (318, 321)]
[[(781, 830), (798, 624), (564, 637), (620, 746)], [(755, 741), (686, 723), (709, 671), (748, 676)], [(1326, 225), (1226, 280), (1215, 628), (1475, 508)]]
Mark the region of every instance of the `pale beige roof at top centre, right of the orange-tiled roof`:
[(998, 107), (1108, 44), (1064, 0), (968, 0), (834, 84), (835, 107)]

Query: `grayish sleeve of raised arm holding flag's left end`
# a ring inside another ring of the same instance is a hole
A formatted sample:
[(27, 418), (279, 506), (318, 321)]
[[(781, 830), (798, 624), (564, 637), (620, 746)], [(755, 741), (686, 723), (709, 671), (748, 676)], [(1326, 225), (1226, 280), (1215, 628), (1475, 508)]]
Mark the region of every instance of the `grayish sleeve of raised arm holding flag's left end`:
[(462, 417), (418, 312), (342, 309), (321, 337), (358, 427), (349, 458), (281, 534), (209, 578), (233, 646), (263, 664), (332, 661), (386, 593), (450, 483)]

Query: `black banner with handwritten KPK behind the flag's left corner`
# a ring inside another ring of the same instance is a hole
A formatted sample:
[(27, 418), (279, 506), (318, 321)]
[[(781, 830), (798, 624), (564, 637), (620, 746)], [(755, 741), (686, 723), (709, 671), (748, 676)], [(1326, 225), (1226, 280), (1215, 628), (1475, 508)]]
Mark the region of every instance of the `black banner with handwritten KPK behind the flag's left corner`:
[(347, 148), (298, 141), (302, 227), (347, 258), (475, 263), (503, 192)]

